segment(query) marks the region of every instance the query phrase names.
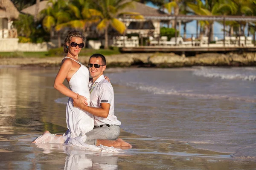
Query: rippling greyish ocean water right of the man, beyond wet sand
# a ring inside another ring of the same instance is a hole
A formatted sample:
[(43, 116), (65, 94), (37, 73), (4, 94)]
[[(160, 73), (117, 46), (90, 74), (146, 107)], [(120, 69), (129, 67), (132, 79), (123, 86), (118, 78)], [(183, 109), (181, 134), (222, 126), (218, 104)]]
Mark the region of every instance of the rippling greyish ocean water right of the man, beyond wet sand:
[(256, 158), (256, 68), (134, 68), (108, 77), (124, 130)]

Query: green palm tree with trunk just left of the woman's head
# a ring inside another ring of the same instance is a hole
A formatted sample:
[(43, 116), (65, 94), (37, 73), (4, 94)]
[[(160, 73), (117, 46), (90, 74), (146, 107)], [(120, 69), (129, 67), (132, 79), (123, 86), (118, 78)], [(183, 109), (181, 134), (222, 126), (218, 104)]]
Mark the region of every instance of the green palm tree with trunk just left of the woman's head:
[(61, 47), (61, 34), (60, 29), (56, 30), (55, 27), (70, 20), (70, 14), (65, 11), (66, 8), (66, 0), (49, 0), (48, 7), (41, 11), (44, 16), (42, 21), (43, 28), (50, 33), (57, 31), (58, 47)]

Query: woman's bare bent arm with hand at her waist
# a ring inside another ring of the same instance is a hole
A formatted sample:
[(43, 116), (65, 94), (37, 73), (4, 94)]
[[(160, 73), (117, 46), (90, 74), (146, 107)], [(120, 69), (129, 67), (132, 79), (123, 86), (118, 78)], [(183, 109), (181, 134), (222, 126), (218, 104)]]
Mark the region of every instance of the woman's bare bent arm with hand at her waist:
[(60, 70), (58, 71), (58, 74), (54, 81), (54, 88), (64, 94), (65, 96), (75, 98), (77, 99), (76, 93), (68, 89), (64, 84), (64, 80), (67, 77), (68, 72), (70, 71), (72, 67), (72, 61), (69, 59), (65, 59), (64, 62), (61, 65)]

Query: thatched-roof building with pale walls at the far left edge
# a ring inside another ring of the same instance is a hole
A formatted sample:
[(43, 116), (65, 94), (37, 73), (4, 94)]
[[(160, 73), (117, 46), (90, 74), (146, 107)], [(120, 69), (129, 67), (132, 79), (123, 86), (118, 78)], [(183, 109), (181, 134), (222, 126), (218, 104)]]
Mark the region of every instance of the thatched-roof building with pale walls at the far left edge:
[(0, 38), (17, 38), (17, 30), (12, 28), (12, 22), (19, 14), (11, 0), (0, 0)]

